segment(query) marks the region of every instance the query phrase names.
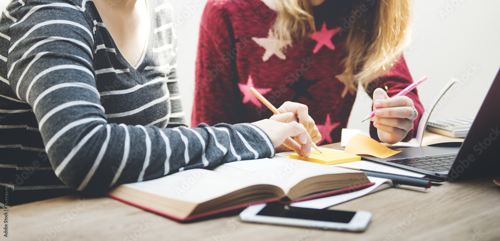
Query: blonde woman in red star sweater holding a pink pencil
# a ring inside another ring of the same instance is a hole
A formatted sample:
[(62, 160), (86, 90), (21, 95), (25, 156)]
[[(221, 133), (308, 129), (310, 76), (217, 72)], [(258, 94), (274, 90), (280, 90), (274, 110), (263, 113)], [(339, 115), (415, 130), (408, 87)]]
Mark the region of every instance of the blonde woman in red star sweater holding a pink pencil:
[[(309, 107), (322, 136), (340, 141), (360, 82), (373, 97), (375, 140), (409, 141), (423, 107), (402, 50), (409, 0), (208, 0), (200, 24), (191, 124), (251, 122), (275, 106)], [(317, 140), (316, 140), (317, 141)]]

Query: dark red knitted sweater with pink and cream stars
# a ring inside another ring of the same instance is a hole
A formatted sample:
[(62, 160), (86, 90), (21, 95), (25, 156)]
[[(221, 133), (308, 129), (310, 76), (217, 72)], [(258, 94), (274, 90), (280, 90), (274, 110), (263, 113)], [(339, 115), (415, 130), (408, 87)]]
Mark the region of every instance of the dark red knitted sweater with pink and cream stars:
[[(253, 86), (276, 107), (285, 101), (307, 105), (323, 137), (318, 144), (339, 142), (355, 99), (339, 76), (345, 30), (354, 14), (339, 5), (344, 2), (349, 1), (327, 0), (314, 7), (316, 32), (281, 51), (270, 31), (276, 12), (262, 1), (208, 0), (199, 30), (191, 124), (253, 122), (270, 117), (272, 112), (248, 90)], [(369, 2), (366, 6), (374, 7)], [(369, 85), (367, 93), (372, 96), (381, 87), (392, 96), (412, 82), (401, 56)], [(406, 96), (418, 113), (423, 113), (416, 89)], [(413, 130), (403, 141), (413, 137)], [(370, 134), (378, 140), (372, 123)]]

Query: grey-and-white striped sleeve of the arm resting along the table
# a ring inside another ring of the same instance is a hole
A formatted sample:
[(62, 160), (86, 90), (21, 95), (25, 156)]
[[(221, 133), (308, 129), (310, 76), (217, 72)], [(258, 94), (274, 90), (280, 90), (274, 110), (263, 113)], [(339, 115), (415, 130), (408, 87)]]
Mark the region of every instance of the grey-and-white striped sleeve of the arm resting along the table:
[(252, 124), (160, 129), (108, 123), (92, 64), (96, 23), (79, 6), (47, 5), (26, 18), (12, 12), (23, 20), (10, 27), (8, 82), (32, 107), (50, 164), (68, 187), (103, 191), (274, 155), (269, 137)]

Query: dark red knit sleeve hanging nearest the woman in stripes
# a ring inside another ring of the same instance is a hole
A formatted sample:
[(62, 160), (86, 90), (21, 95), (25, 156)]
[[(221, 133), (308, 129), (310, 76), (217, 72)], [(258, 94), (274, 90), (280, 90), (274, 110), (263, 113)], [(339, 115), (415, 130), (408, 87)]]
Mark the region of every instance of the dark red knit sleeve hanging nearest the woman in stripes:
[(238, 39), (231, 34), (224, 1), (208, 0), (201, 16), (191, 125), (239, 123), (236, 73)]

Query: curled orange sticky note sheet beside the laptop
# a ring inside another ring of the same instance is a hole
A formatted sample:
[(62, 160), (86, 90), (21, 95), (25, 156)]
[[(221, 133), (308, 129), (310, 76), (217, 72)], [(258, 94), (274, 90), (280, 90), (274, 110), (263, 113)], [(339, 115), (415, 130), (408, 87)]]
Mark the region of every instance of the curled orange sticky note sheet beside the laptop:
[(370, 155), (378, 158), (387, 158), (400, 151), (394, 151), (370, 137), (357, 134), (347, 143), (344, 152), (353, 155)]

